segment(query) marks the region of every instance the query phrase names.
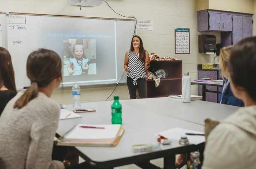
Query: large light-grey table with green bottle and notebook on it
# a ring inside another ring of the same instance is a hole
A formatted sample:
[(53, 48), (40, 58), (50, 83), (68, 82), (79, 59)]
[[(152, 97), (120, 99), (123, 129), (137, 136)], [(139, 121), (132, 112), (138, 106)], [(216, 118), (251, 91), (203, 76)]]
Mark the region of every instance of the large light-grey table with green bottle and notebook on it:
[[(195, 151), (199, 145), (181, 146), (172, 140), (171, 145), (153, 152), (135, 154), (132, 145), (157, 143), (155, 133), (174, 127), (204, 131), (203, 119), (215, 116), (221, 120), (234, 112), (237, 107), (212, 102), (191, 101), (182, 103), (168, 97), (121, 100), (123, 128), (126, 130), (116, 147), (75, 147), (74, 150), (90, 165), (97, 168), (113, 168), (136, 164), (142, 168), (157, 168), (148, 160), (164, 157), (164, 169), (175, 168), (175, 154)], [(80, 113), (82, 118), (60, 120), (57, 134), (62, 135), (75, 124), (111, 124), (113, 101), (82, 104), (82, 108), (94, 108), (96, 112)], [(209, 111), (203, 108), (207, 107)], [(72, 105), (67, 105), (72, 110)], [(216, 111), (214, 111), (216, 110)]]

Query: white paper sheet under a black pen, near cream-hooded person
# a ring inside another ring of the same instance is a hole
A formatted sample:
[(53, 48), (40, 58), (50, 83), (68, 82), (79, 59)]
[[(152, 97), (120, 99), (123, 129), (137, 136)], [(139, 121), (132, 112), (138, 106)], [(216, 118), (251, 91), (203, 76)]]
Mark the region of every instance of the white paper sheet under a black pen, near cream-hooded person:
[(174, 140), (178, 140), (178, 141), (181, 136), (186, 136), (188, 138), (190, 144), (200, 144), (200, 143), (205, 142), (205, 136), (191, 136), (191, 135), (186, 135), (185, 133), (204, 134), (204, 132), (199, 132), (199, 131), (188, 130), (188, 129), (176, 127), (176, 128), (171, 128), (166, 131), (156, 133), (155, 135), (158, 136), (157, 134), (160, 134), (161, 136), (164, 136), (168, 139), (174, 139)]

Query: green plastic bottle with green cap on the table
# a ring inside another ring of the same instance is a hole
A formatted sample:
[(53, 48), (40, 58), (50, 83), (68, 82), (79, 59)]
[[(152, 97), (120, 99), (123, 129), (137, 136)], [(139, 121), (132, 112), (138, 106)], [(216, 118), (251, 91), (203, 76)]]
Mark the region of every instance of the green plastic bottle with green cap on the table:
[(114, 102), (111, 105), (112, 109), (112, 124), (122, 125), (122, 105), (119, 103), (119, 96), (114, 96)]

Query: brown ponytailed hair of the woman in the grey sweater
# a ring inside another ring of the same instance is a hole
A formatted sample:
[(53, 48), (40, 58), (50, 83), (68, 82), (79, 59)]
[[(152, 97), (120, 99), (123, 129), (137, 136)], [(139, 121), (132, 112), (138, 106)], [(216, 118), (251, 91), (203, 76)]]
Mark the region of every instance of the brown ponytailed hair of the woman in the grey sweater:
[(27, 76), (31, 86), (15, 102), (14, 108), (22, 108), (37, 97), (39, 89), (48, 86), (52, 80), (61, 77), (61, 59), (57, 53), (48, 49), (32, 52), (27, 58)]

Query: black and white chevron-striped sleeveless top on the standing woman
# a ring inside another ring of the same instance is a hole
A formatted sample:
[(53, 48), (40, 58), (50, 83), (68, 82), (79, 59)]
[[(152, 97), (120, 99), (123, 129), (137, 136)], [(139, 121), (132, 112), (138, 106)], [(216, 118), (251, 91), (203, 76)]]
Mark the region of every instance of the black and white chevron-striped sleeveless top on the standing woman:
[(134, 85), (137, 85), (137, 79), (147, 78), (145, 63), (139, 60), (139, 53), (134, 53), (131, 50), (128, 54), (128, 60), (127, 76), (133, 79)]

